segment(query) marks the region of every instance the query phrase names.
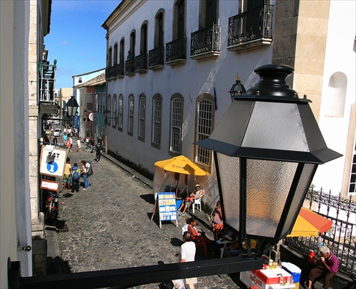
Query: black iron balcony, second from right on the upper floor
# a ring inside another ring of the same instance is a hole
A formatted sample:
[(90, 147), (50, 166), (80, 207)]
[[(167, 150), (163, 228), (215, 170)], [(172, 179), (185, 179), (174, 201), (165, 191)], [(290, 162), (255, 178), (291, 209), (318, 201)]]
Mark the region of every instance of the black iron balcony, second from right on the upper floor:
[(220, 53), (220, 26), (214, 24), (191, 34), (190, 57), (210, 58)]

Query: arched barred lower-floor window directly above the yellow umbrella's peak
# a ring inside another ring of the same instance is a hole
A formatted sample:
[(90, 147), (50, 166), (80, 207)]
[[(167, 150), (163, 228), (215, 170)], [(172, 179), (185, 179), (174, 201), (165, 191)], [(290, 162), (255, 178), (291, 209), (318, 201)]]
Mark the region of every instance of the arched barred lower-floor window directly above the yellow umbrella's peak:
[(182, 96), (174, 95), (171, 99), (171, 136), (169, 151), (174, 154), (182, 153)]

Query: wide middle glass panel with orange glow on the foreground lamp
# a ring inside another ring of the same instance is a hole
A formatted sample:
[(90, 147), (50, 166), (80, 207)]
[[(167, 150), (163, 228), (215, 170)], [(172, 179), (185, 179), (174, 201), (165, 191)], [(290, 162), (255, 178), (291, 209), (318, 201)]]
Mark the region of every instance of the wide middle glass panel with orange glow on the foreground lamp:
[(298, 163), (246, 160), (246, 233), (273, 238)]

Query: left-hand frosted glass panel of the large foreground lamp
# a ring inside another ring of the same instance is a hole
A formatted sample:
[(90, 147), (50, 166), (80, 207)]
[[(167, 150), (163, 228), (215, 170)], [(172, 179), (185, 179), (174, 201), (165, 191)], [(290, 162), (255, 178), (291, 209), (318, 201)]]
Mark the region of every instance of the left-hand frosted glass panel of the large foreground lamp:
[(218, 159), (226, 224), (240, 231), (240, 158), (215, 153)]

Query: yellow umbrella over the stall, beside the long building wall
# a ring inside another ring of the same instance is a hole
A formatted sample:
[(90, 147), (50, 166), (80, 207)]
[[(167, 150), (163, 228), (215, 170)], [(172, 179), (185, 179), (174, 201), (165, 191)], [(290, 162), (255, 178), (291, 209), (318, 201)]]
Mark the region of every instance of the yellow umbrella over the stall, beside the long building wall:
[(194, 164), (190, 159), (184, 157), (183, 155), (155, 162), (155, 166), (166, 171), (177, 172), (179, 174), (194, 174), (195, 176), (206, 175), (206, 172), (199, 168), (197, 164)]

